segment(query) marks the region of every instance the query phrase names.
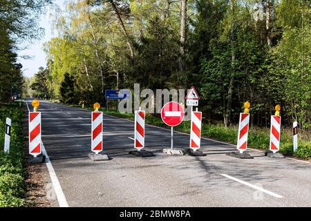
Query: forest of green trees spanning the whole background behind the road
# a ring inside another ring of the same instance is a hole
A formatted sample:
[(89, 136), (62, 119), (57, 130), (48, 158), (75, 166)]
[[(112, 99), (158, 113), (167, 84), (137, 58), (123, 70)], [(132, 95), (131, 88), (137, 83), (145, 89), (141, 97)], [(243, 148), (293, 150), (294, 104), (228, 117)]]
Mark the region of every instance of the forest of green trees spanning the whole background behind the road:
[[(0, 2), (3, 12), (22, 1)], [(209, 124), (236, 124), (249, 101), (252, 125), (269, 126), (280, 104), (283, 124), (311, 129), (310, 0), (64, 1), (65, 9), (55, 8), (57, 37), (44, 44), (48, 64), (32, 79), (16, 64), (18, 39), (39, 38), (26, 15), (53, 1), (26, 2), (37, 6), (0, 17), (2, 100), (10, 84), (66, 104), (104, 104), (105, 89), (135, 83), (141, 90), (194, 85)]]

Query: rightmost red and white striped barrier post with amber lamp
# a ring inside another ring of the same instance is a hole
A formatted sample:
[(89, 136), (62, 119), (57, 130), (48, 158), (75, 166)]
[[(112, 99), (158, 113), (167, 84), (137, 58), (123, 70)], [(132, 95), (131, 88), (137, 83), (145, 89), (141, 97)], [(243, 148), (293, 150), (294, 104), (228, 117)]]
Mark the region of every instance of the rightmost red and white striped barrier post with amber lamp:
[(270, 151), (276, 153), (280, 150), (280, 137), (281, 137), (281, 116), (279, 111), (281, 106), (276, 105), (275, 115), (271, 116), (271, 126), (270, 126)]

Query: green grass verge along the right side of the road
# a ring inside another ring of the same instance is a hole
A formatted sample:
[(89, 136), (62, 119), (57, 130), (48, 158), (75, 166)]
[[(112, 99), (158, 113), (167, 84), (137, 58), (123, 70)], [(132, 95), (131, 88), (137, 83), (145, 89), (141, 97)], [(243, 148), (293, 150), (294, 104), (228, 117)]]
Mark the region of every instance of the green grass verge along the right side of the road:
[[(80, 107), (79, 105), (70, 105), (75, 107)], [(84, 106), (85, 109), (93, 110), (93, 106)], [(134, 119), (134, 115), (130, 113), (119, 113), (117, 111), (109, 110), (106, 108), (100, 108), (100, 111), (113, 115), (115, 117), (122, 117), (126, 119)], [(166, 124), (162, 122), (160, 115), (146, 115), (146, 123), (161, 126), (163, 128), (169, 128)], [(182, 122), (180, 125), (176, 126), (176, 131), (189, 133), (190, 132), (190, 122)], [(208, 137), (214, 140), (228, 142), (231, 144), (236, 144), (238, 137), (238, 127), (230, 126), (225, 127), (223, 124), (202, 124), (202, 137)], [(257, 126), (249, 128), (248, 142), (247, 146), (249, 148), (260, 148), (263, 150), (269, 150), (270, 142), (270, 128), (260, 128)], [(280, 152), (285, 155), (294, 155), (295, 157), (300, 157), (303, 159), (311, 159), (311, 134), (309, 132), (299, 133), (298, 149), (294, 153), (292, 146), (292, 130), (290, 128), (281, 129), (281, 141), (280, 141)]]

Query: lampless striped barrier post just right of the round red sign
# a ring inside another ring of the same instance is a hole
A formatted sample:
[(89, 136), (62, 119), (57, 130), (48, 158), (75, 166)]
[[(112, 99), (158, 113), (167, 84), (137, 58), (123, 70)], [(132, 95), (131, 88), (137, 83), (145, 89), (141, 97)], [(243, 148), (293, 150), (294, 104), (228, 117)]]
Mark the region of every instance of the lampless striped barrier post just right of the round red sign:
[(202, 125), (202, 112), (191, 112), (191, 131), (190, 131), (190, 148), (196, 151), (200, 148), (201, 143), (201, 125)]

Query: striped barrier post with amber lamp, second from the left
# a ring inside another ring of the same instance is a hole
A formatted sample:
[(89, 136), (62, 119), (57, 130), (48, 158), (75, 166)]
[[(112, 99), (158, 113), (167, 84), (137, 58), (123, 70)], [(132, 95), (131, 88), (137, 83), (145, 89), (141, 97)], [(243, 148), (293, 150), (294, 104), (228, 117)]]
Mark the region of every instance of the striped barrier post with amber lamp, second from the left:
[(102, 151), (102, 112), (98, 111), (100, 104), (94, 104), (95, 111), (92, 112), (92, 135), (91, 150), (98, 154)]

